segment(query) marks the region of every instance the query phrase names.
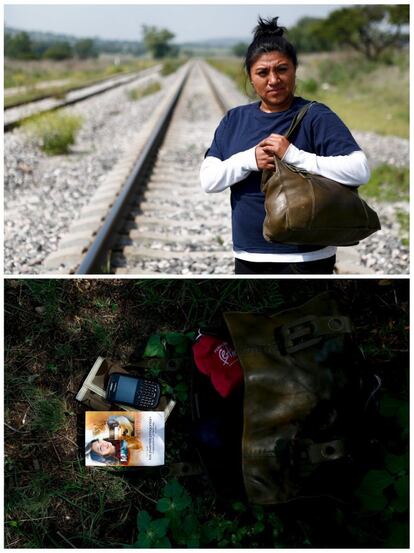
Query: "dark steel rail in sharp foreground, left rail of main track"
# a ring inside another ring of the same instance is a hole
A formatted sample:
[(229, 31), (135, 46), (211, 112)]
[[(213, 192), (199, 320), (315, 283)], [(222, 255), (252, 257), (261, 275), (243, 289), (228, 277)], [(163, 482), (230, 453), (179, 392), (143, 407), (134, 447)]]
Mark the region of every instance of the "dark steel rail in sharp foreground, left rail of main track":
[(165, 136), (174, 113), (175, 106), (177, 105), (191, 69), (192, 66), (188, 67), (182, 77), (180, 86), (165, 109), (163, 117), (160, 118), (156, 128), (148, 139), (144, 149), (134, 165), (131, 174), (126, 180), (119, 196), (108, 213), (104, 224), (96, 235), (94, 242), (83, 258), (76, 274), (89, 275), (102, 274), (105, 272), (103, 268), (108, 261), (108, 255), (112, 247), (116, 243), (117, 234), (122, 229), (122, 226), (127, 218), (131, 200), (136, 194), (139, 184), (145, 179), (152, 158)]

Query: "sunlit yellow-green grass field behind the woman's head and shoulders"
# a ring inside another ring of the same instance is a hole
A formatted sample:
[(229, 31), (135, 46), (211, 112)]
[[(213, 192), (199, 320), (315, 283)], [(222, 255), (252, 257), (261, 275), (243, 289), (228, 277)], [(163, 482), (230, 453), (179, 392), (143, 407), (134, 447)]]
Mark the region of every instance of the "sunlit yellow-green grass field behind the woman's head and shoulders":
[[(251, 95), (240, 59), (208, 61), (231, 77), (242, 93)], [(296, 94), (327, 104), (351, 129), (409, 136), (406, 53), (394, 54), (377, 63), (343, 52), (303, 55)]]

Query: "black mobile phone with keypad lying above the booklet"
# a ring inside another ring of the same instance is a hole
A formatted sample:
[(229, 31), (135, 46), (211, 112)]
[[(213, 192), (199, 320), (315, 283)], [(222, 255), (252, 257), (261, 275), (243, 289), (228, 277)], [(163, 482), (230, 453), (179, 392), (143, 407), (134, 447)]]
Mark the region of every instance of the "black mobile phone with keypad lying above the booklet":
[(106, 388), (108, 401), (124, 403), (142, 410), (157, 407), (160, 395), (161, 388), (158, 382), (123, 373), (112, 373)]

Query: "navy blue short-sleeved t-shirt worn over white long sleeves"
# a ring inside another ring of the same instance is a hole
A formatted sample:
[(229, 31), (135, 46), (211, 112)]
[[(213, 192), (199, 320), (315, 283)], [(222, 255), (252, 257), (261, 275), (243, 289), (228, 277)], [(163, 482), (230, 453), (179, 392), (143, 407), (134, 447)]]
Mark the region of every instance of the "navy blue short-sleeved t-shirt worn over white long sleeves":
[[(295, 116), (308, 100), (295, 97), (286, 111), (266, 113), (260, 102), (239, 106), (227, 112), (214, 134), (207, 156), (222, 161), (243, 152), (272, 133), (285, 134)], [(348, 155), (360, 147), (339, 117), (327, 106), (311, 106), (290, 141), (300, 150), (319, 156)], [(261, 171), (252, 171), (231, 186), (233, 246), (251, 253), (299, 253), (318, 246), (293, 246), (270, 243), (263, 238), (264, 194), (260, 190)]]

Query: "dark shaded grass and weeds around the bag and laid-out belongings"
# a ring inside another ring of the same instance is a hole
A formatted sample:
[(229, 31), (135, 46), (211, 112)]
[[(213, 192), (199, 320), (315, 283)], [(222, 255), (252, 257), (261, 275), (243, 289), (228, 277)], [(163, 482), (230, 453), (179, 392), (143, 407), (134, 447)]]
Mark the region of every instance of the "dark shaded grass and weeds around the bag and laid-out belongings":
[[(7, 280), (5, 547), (153, 547), (166, 540), (172, 547), (406, 547), (408, 284), (407, 279)], [(150, 354), (151, 361), (164, 352), (181, 356), (178, 372), (164, 371), (159, 361), (158, 368), (154, 364), (141, 374), (158, 378), (177, 400), (167, 422), (167, 463), (198, 462), (190, 438), (191, 336), (200, 326), (222, 330), (225, 311), (272, 314), (326, 290), (351, 316), (364, 366), (383, 382), (375, 455), (364, 456), (346, 502), (312, 498), (255, 507), (217, 496), (199, 477), (175, 483), (165, 469), (84, 466), (79, 445), (84, 408), (75, 395), (98, 355), (124, 366), (139, 365)]]

